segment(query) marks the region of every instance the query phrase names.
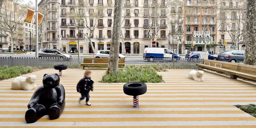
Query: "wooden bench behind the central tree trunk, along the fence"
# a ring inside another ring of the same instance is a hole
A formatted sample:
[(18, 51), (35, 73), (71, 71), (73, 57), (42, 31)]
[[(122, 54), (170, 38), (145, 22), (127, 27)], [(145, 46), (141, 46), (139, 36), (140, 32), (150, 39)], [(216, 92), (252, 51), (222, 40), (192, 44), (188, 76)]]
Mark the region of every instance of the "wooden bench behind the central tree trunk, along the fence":
[[(81, 66), (83, 66), (83, 69), (85, 67), (87, 68), (108, 67), (108, 65), (109, 65), (108, 58), (84, 58), (83, 63), (81, 63)], [(118, 67), (123, 68), (124, 66), (125, 66), (125, 58), (119, 58)]]

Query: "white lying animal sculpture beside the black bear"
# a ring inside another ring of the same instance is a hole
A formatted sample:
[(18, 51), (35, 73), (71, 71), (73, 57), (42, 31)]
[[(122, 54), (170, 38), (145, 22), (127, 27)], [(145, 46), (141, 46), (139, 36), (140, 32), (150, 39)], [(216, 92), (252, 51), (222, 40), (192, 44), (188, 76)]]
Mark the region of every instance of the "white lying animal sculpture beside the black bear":
[(31, 90), (36, 88), (35, 81), (37, 80), (36, 75), (30, 75), (28, 77), (18, 76), (12, 81), (12, 89), (14, 90)]

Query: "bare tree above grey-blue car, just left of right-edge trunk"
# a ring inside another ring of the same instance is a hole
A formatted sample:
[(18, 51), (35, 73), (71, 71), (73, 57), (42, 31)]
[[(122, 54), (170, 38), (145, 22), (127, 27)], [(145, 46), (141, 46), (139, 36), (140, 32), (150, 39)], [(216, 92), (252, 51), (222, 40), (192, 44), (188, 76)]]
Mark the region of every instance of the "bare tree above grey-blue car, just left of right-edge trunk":
[(243, 41), (245, 37), (245, 24), (246, 24), (246, 5), (245, 0), (236, 1), (236, 5), (231, 0), (221, 0), (220, 2), (229, 3), (224, 7), (220, 5), (220, 18), (222, 29), (225, 29), (229, 34), (234, 48), (238, 49), (238, 44)]

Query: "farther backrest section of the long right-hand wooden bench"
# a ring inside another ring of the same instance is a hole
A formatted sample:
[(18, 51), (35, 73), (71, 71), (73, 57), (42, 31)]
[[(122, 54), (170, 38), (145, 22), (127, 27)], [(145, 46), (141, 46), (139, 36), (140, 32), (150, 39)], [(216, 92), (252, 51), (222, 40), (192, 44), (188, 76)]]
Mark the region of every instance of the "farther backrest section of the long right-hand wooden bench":
[[(206, 62), (206, 61), (211, 62), (210, 66), (215, 66), (216, 63), (221, 63), (222, 68), (231, 69), (231, 70), (234, 70), (234, 71), (237, 71), (238, 65), (239, 65), (239, 63), (230, 63), (230, 62), (224, 62), (224, 61), (203, 59), (203, 63), (205, 62), (205, 65), (209, 65), (209, 63)], [(216, 65), (216, 67), (220, 67), (220, 65)]]

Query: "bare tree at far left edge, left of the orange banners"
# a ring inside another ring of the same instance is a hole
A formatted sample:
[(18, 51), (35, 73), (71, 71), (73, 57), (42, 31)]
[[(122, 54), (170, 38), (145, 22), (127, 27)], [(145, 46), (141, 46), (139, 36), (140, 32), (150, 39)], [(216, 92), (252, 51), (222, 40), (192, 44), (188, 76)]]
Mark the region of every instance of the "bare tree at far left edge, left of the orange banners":
[(13, 52), (14, 32), (23, 27), (23, 21), (26, 17), (27, 8), (20, 8), (21, 0), (4, 0), (0, 11), (0, 29), (11, 34), (11, 52)]

